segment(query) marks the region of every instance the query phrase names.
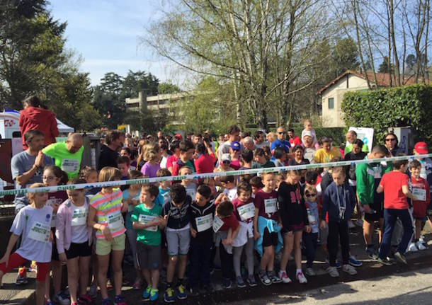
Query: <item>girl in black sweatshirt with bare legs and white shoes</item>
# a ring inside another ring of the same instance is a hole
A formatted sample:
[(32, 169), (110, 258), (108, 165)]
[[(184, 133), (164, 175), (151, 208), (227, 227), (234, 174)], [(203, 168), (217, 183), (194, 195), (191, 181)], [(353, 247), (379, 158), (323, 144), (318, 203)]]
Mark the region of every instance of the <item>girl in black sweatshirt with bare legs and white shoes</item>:
[(283, 255), (280, 260), (279, 277), (284, 283), (291, 280), (286, 273), (288, 258), (294, 248), (295, 277), (300, 284), (306, 284), (307, 279), (302, 272), (302, 231), (310, 233), (309, 220), (305, 200), (300, 187), (301, 171), (290, 170), (285, 181), (280, 183), (278, 188), (279, 214), (282, 219), (283, 234)]

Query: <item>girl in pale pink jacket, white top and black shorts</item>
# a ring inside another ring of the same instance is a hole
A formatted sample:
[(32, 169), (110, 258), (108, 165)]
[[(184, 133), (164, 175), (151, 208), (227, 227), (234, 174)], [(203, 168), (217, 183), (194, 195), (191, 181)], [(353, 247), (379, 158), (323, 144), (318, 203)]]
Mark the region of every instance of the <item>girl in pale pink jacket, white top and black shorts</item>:
[[(68, 184), (86, 183), (74, 178)], [(93, 230), (87, 226), (89, 198), (85, 190), (67, 190), (68, 200), (60, 205), (55, 221), (59, 260), (67, 263), (67, 284), (71, 305), (91, 304), (87, 294)], [(76, 297), (79, 286), (79, 297)]]

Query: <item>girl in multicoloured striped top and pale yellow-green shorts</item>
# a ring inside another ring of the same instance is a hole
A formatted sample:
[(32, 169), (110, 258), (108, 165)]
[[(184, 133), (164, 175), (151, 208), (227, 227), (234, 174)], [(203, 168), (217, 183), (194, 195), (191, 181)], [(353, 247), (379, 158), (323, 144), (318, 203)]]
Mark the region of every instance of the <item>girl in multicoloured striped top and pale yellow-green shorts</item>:
[[(106, 166), (99, 173), (99, 182), (121, 180), (122, 173), (118, 168)], [(96, 255), (98, 255), (98, 284), (101, 288), (102, 304), (110, 304), (107, 292), (108, 264), (111, 264), (114, 276), (115, 304), (125, 305), (121, 295), (122, 261), (125, 252), (125, 226), (123, 224), (123, 193), (120, 188), (102, 188), (101, 192), (91, 197), (87, 223), (96, 229)]]

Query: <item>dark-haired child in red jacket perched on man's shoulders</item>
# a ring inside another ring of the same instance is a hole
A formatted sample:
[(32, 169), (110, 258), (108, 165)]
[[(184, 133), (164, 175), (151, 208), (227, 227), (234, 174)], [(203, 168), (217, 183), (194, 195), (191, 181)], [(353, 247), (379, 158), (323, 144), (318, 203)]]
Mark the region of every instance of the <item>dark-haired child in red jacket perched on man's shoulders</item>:
[(40, 130), (43, 132), (45, 134), (45, 146), (55, 143), (55, 137), (59, 136), (55, 114), (42, 106), (37, 96), (25, 98), (23, 100), (23, 108), (24, 110), (21, 110), (18, 120), (21, 138), (23, 139), (23, 149), (27, 149), (24, 134), (29, 130)]

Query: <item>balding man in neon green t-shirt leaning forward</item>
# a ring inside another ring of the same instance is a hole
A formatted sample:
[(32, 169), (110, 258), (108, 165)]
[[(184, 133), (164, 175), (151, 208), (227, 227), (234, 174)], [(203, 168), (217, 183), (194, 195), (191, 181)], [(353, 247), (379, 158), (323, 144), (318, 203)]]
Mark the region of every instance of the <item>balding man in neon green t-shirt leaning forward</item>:
[(78, 177), (81, 168), (84, 139), (81, 134), (69, 134), (66, 142), (53, 143), (42, 149), (42, 153), (54, 159), (55, 166), (67, 173), (67, 178)]

